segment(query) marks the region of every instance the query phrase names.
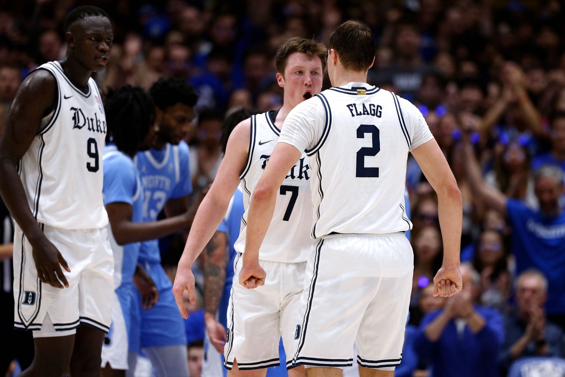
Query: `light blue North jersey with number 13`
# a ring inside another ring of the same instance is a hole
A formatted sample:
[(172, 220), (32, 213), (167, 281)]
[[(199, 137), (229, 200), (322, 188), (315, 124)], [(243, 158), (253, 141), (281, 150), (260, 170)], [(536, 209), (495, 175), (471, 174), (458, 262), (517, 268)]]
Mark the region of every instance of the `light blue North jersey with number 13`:
[[(134, 163), (144, 188), (144, 222), (157, 221), (157, 216), (170, 198), (192, 193), (189, 150), (184, 141), (179, 145), (167, 144), (162, 150), (138, 152)], [(142, 242), (140, 259), (160, 262), (159, 240)]]

